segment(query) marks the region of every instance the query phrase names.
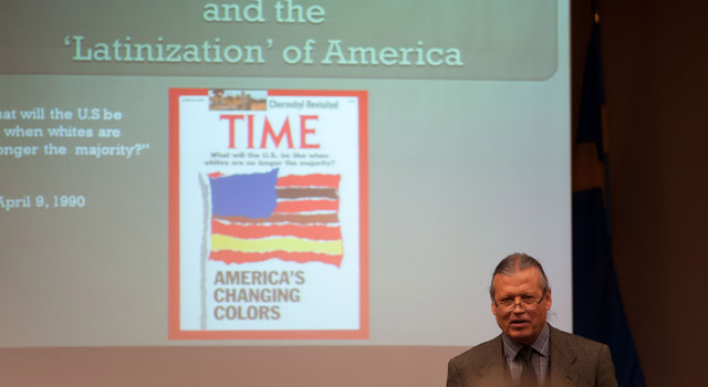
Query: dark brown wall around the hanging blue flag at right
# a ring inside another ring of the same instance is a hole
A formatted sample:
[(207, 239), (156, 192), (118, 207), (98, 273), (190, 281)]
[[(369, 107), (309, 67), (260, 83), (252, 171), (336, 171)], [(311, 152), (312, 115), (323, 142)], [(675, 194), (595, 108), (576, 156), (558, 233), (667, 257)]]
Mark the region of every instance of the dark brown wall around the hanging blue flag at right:
[[(627, 318), (647, 386), (705, 385), (708, 2), (600, 6), (613, 249)], [(573, 1), (575, 122), (591, 8)]]

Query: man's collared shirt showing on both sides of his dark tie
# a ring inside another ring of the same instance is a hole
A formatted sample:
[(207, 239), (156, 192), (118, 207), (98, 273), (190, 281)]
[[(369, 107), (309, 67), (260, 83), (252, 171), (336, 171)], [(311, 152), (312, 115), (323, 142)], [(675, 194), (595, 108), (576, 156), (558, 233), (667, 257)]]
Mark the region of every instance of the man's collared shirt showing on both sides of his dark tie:
[[(519, 381), (521, 378), (521, 360), (517, 358), (519, 351), (523, 347), (523, 344), (519, 344), (511, 339), (511, 337), (506, 334), (501, 334), (501, 338), (503, 342), (504, 348), (504, 362), (509, 367), (509, 372), (511, 373), (511, 379), (513, 381)], [(546, 323), (541, 330), (539, 337), (535, 338), (535, 342), (531, 344), (531, 347), (534, 349), (531, 355), (531, 364), (533, 365), (533, 369), (535, 370), (535, 375), (539, 378), (539, 385), (543, 385), (545, 383), (545, 376), (549, 372), (549, 359), (551, 355), (551, 330), (549, 328), (549, 324)]]

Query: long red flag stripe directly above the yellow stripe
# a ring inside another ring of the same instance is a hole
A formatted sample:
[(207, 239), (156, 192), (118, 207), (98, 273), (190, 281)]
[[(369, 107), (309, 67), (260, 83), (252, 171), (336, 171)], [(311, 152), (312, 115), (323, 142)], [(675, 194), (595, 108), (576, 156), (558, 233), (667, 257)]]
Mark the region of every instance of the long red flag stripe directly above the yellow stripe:
[(244, 238), (257, 239), (268, 237), (298, 237), (311, 240), (333, 241), (342, 239), (342, 231), (340, 227), (326, 227), (326, 226), (298, 226), (298, 224), (277, 224), (277, 226), (243, 226), (222, 223), (219, 221), (211, 221), (211, 233)]

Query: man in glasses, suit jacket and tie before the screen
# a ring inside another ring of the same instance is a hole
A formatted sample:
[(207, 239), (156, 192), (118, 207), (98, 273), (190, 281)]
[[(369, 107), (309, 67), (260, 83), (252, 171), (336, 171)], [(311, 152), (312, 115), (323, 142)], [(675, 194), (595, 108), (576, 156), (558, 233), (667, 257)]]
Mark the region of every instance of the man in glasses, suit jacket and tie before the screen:
[(617, 386), (606, 345), (548, 324), (551, 287), (539, 261), (504, 258), (489, 294), (501, 334), (450, 359), (447, 387)]

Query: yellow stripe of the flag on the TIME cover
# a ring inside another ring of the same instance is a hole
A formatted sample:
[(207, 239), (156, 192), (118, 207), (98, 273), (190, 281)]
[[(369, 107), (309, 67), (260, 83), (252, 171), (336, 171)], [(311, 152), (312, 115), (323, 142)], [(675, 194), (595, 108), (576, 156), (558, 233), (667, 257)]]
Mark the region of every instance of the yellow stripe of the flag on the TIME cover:
[(211, 250), (233, 250), (243, 252), (319, 252), (342, 254), (342, 241), (311, 241), (299, 238), (239, 239), (219, 234), (211, 236)]

